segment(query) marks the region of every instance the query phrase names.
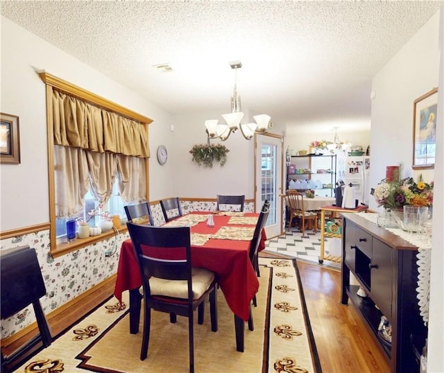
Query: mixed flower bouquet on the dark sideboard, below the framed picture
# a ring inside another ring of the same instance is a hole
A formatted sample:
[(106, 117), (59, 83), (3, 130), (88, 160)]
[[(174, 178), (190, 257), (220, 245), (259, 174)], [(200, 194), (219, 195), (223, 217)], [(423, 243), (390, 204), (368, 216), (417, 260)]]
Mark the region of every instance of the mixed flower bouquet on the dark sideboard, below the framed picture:
[(378, 206), (384, 209), (402, 209), (403, 206), (432, 206), (434, 183), (423, 182), (419, 177), (418, 182), (413, 177), (404, 177), (400, 181), (388, 182), (382, 179), (373, 189)]

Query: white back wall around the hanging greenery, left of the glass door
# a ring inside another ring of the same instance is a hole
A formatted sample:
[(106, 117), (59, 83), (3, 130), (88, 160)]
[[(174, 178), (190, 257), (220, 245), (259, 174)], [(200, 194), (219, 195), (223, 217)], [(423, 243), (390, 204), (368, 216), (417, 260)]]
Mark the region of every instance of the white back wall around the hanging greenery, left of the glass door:
[[(244, 108), (244, 121), (251, 121), (251, 113)], [(211, 144), (223, 144), (230, 152), (224, 166), (214, 164), (212, 168), (191, 162), (189, 150), (194, 144), (206, 144), (205, 120), (218, 119), (223, 112), (201, 112), (180, 114), (173, 118), (174, 132), (169, 137), (174, 144), (171, 154), (171, 183), (176, 186), (178, 196), (185, 198), (216, 198), (216, 194), (245, 194), (254, 198), (254, 140), (247, 141), (238, 130), (226, 141), (210, 140)], [(271, 119), (273, 121), (273, 119)], [(274, 123), (269, 132), (283, 135), (282, 126)]]

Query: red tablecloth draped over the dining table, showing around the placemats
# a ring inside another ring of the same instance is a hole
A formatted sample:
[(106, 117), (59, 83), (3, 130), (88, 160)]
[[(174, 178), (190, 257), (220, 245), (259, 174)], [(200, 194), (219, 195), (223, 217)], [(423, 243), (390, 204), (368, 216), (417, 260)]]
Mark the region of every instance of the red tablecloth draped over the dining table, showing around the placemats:
[[(245, 216), (259, 216), (248, 214)], [(254, 225), (229, 225), (230, 216), (214, 215), (214, 227), (207, 227), (206, 221), (191, 227), (191, 232), (200, 234), (215, 234), (220, 227), (237, 226), (252, 227)], [(259, 250), (265, 247), (265, 232)], [(193, 266), (207, 268), (216, 273), (219, 286), (225, 295), (225, 300), (234, 314), (247, 321), (250, 315), (250, 302), (259, 289), (256, 272), (250, 262), (248, 250), (250, 241), (219, 240), (211, 238), (203, 246), (191, 246), (191, 261)], [(137, 261), (131, 240), (122, 243), (117, 267), (117, 280), (114, 296), (121, 301), (124, 290), (136, 289), (142, 286)]]

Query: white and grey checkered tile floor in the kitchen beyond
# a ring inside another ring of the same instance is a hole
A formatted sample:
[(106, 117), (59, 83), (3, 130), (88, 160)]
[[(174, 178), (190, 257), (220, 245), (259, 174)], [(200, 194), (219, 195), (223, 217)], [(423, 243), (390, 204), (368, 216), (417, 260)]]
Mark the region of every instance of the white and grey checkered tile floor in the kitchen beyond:
[[(338, 241), (332, 243), (334, 240)], [(336, 245), (334, 253), (336, 254), (336, 252), (338, 252), (337, 245), (340, 244), (339, 242), (340, 238), (326, 238), (324, 256), (327, 256), (329, 253), (330, 245)], [(265, 250), (267, 252), (276, 252), (303, 261), (316, 263), (319, 266), (341, 268), (341, 263), (335, 263), (333, 261), (324, 260), (323, 264), (319, 263), (318, 260), (321, 254), (321, 232), (319, 231), (315, 234), (312, 230), (306, 229), (305, 236), (302, 236), (298, 227), (291, 227), (291, 232), (286, 228), (284, 235), (266, 241)]]

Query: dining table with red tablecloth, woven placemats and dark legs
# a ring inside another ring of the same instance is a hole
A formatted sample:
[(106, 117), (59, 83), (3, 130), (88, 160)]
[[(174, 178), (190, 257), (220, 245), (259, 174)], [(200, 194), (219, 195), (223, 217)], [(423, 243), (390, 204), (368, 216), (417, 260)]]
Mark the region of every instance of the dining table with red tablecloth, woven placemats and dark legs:
[[(209, 216), (214, 223), (207, 224)], [(237, 351), (244, 352), (244, 325), (250, 317), (250, 304), (259, 289), (259, 281), (250, 261), (250, 243), (259, 214), (234, 211), (194, 211), (165, 223), (164, 226), (189, 226), (191, 264), (216, 274), (225, 300), (234, 313)], [(262, 230), (259, 250), (265, 248)], [(129, 290), (130, 333), (139, 331), (142, 286), (137, 259), (130, 239), (123, 241), (117, 266), (114, 296), (121, 302)]]

